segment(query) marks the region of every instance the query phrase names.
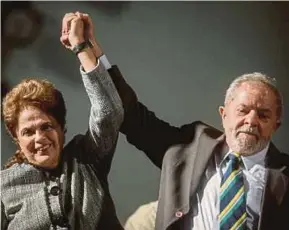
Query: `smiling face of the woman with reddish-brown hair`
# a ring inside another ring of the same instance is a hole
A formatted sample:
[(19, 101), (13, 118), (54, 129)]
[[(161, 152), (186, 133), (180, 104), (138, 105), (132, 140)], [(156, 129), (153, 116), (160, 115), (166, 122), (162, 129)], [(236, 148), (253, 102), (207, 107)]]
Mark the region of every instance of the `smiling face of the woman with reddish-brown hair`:
[(64, 143), (57, 121), (36, 107), (27, 107), (18, 117), (17, 142), (27, 160), (43, 168), (55, 168)]

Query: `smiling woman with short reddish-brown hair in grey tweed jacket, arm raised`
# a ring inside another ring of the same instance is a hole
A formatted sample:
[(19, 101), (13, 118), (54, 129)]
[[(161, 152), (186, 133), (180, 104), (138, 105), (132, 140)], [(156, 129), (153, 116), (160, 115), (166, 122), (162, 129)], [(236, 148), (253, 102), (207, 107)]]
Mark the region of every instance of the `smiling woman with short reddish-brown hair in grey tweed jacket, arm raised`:
[(69, 24), (65, 46), (77, 50), (91, 102), (89, 128), (63, 147), (65, 104), (48, 81), (26, 79), (7, 94), (4, 122), (19, 150), (1, 171), (2, 229), (123, 229), (107, 181), (121, 100), (98, 61), (100, 48), (83, 46), (80, 15), (66, 14), (63, 23)]

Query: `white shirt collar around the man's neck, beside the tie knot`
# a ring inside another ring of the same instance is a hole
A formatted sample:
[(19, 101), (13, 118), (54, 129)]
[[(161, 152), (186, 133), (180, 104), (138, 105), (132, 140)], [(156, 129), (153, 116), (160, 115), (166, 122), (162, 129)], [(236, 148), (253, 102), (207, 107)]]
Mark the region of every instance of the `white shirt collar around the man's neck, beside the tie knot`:
[[(251, 155), (251, 156), (241, 156), (241, 159), (243, 161), (244, 167), (246, 170), (250, 170), (254, 165), (258, 164), (261, 166), (265, 166), (265, 157), (268, 152), (270, 143), (267, 144), (267, 146), (262, 149), (261, 151)], [(229, 154), (232, 153), (233, 151), (230, 149), (225, 157), (221, 160), (219, 166), (221, 166), (223, 163), (225, 163), (229, 158)]]

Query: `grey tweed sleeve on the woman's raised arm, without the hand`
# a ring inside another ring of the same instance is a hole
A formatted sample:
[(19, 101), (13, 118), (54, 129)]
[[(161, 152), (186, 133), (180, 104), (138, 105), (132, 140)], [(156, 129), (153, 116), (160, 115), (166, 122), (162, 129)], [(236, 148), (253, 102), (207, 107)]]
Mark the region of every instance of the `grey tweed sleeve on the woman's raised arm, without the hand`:
[(97, 154), (106, 154), (114, 148), (123, 121), (121, 99), (101, 62), (90, 72), (81, 70), (81, 74), (91, 102), (90, 135)]

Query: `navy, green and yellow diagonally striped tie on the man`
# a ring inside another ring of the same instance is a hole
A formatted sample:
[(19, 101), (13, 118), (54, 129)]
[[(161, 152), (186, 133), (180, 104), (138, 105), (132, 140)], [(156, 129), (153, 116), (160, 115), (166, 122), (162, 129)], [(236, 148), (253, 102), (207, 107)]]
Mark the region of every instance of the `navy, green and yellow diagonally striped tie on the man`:
[(240, 168), (241, 157), (232, 153), (229, 158), (228, 169), (221, 181), (220, 230), (245, 229), (246, 194), (243, 173)]

